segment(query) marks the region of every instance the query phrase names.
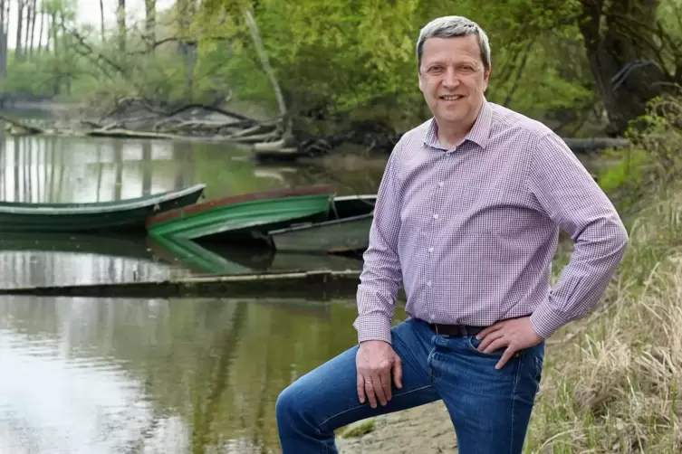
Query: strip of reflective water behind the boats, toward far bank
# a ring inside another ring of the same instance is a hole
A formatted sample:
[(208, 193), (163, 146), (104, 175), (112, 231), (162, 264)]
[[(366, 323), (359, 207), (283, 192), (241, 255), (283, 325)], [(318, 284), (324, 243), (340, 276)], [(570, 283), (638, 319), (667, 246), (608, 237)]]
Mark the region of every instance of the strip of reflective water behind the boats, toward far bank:
[(338, 163), (257, 166), (244, 147), (107, 137), (0, 135), (0, 200), (98, 202), (207, 184), (209, 198), (303, 184), (335, 184), (340, 194), (373, 191), (381, 168)]

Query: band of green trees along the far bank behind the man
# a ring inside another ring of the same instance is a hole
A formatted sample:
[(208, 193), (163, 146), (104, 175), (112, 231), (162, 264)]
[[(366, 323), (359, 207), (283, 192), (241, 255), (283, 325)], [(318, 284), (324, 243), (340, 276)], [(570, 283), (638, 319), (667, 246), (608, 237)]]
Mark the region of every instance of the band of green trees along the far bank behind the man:
[[(5, 97), (96, 106), (229, 99), (264, 117), (285, 108), (316, 132), (363, 120), (400, 131), (428, 116), (417, 83), (419, 30), (453, 14), (447, 0), (146, 6), (136, 22), (120, 0), (117, 22), (96, 27), (76, 24), (72, 0), (0, 0)], [(462, 0), (455, 13), (490, 36), (488, 99), (566, 135), (622, 135), (682, 73), (680, 0)], [(10, 14), (24, 24), (14, 52)]]

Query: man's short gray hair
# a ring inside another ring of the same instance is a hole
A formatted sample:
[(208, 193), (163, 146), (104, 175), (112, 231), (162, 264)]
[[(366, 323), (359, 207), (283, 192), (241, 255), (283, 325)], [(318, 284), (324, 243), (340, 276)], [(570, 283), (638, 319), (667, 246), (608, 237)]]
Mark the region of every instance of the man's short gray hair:
[(417, 41), (417, 65), (421, 67), (421, 54), (424, 52), (424, 43), (428, 38), (455, 38), (475, 34), (478, 38), (478, 47), (481, 50), (481, 61), (485, 71), (490, 69), (490, 42), (483, 29), (473, 21), (461, 15), (447, 15), (438, 17), (419, 32)]

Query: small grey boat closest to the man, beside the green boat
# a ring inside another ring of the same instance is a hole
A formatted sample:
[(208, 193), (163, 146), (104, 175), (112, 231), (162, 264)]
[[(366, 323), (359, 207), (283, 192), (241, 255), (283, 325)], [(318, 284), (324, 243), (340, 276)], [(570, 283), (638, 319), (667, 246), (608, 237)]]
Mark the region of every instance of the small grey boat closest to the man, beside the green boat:
[(332, 201), (330, 218), (268, 232), (277, 251), (350, 252), (367, 249), (376, 195), (345, 195)]

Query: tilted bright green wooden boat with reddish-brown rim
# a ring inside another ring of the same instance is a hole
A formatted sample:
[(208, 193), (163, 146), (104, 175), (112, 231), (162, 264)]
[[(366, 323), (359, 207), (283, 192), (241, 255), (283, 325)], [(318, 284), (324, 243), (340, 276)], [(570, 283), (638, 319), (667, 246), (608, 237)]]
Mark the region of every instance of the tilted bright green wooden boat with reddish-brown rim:
[(224, 197), (152, 216), (147, 231), (195, 241), (269, 242), (269, 230), (324, 220), (333, 197), (329, 185)]

